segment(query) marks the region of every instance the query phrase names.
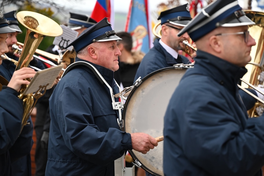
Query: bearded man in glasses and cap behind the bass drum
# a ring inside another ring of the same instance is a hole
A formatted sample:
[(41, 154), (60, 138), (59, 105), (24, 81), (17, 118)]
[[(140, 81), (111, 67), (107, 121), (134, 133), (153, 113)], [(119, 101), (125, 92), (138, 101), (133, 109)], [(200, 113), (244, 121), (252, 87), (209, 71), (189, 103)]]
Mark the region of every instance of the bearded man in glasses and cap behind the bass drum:
[[(191, 63), (187, 57), (178, 53), (179, 50), (186, 48), (183, 41), (189, 41), (188, 33), (186, 32), (180, 37), (177, 36), (178, 32), (191, 20), (188, 4), (161, 12), (158, 20), (161, 20), (161, 39), (155, 39), (154, 47), (143, 57), (134, 82), (139, 76), (142, 79), (161, 68)], [(195, 54), (192, 57), (195, 57)]]

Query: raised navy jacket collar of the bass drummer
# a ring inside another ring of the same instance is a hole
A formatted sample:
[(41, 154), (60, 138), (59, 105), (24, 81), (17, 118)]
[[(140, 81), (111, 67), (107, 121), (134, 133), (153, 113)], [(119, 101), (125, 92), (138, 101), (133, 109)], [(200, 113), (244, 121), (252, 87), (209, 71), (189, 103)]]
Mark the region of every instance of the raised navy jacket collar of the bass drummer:
[[(105, 68), (105, 67), (102, 67), (100, 65), (97, 65), (97, 64), (94, 64), (94, 63), (91, 63), (87, 60), (83, 60), (83, 59), (80, 59), (78, 57), (76, 57), (75, 59), (76, 62), (78, 61), (83, 61), (83, 62), (87, 62), (89, 64), (92, 64), (98, 71), (99, 73), (102, 75), (102, 77), (106, 80), (106, 82), (113, 88), (113, 86), (116, 84), (116, 82), (114, 81), (114, 72), (108, 68)], [(92, 72), (90, 68), (88, 67), (85, 67), (84, 68), (86, 71), (88, 72)]]

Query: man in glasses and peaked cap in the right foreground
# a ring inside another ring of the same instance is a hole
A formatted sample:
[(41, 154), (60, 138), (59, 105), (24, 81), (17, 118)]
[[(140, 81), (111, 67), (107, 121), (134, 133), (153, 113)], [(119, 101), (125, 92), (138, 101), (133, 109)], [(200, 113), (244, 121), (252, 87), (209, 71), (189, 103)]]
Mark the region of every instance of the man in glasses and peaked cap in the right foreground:
[(256, 45), (241, 9), (216, 0), (178, 34), (188, 32), (198, 50), (165, 113), (165, 175), (262, 175), (264, 117), (248, 119), (237, 86)]

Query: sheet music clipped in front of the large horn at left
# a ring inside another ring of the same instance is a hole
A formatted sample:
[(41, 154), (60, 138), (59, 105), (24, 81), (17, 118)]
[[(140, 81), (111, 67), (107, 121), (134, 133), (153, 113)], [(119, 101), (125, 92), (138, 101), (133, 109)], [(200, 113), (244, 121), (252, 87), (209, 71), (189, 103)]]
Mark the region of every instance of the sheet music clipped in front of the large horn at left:
[(34, 93), (39, 90), (39, 86), (45, 86), (47, 84), (47, 89), (50, 89), (62, 68), (63, 64), (60, 64), (56, 67), (46, 68), (44, 70), (37, 71), (33, 79), (30, 81), (28, 87), (24, 90), (23, 94), (26, 95)]

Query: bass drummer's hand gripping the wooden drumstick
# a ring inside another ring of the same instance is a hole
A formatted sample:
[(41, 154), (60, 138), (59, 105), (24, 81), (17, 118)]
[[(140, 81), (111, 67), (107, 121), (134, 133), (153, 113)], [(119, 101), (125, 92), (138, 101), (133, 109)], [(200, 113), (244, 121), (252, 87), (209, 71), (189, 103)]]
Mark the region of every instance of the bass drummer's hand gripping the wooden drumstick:
[(132, 148), (143, 154), (158, 146), (157, 140), (145, 133), (132, 133), (131, 140)]

